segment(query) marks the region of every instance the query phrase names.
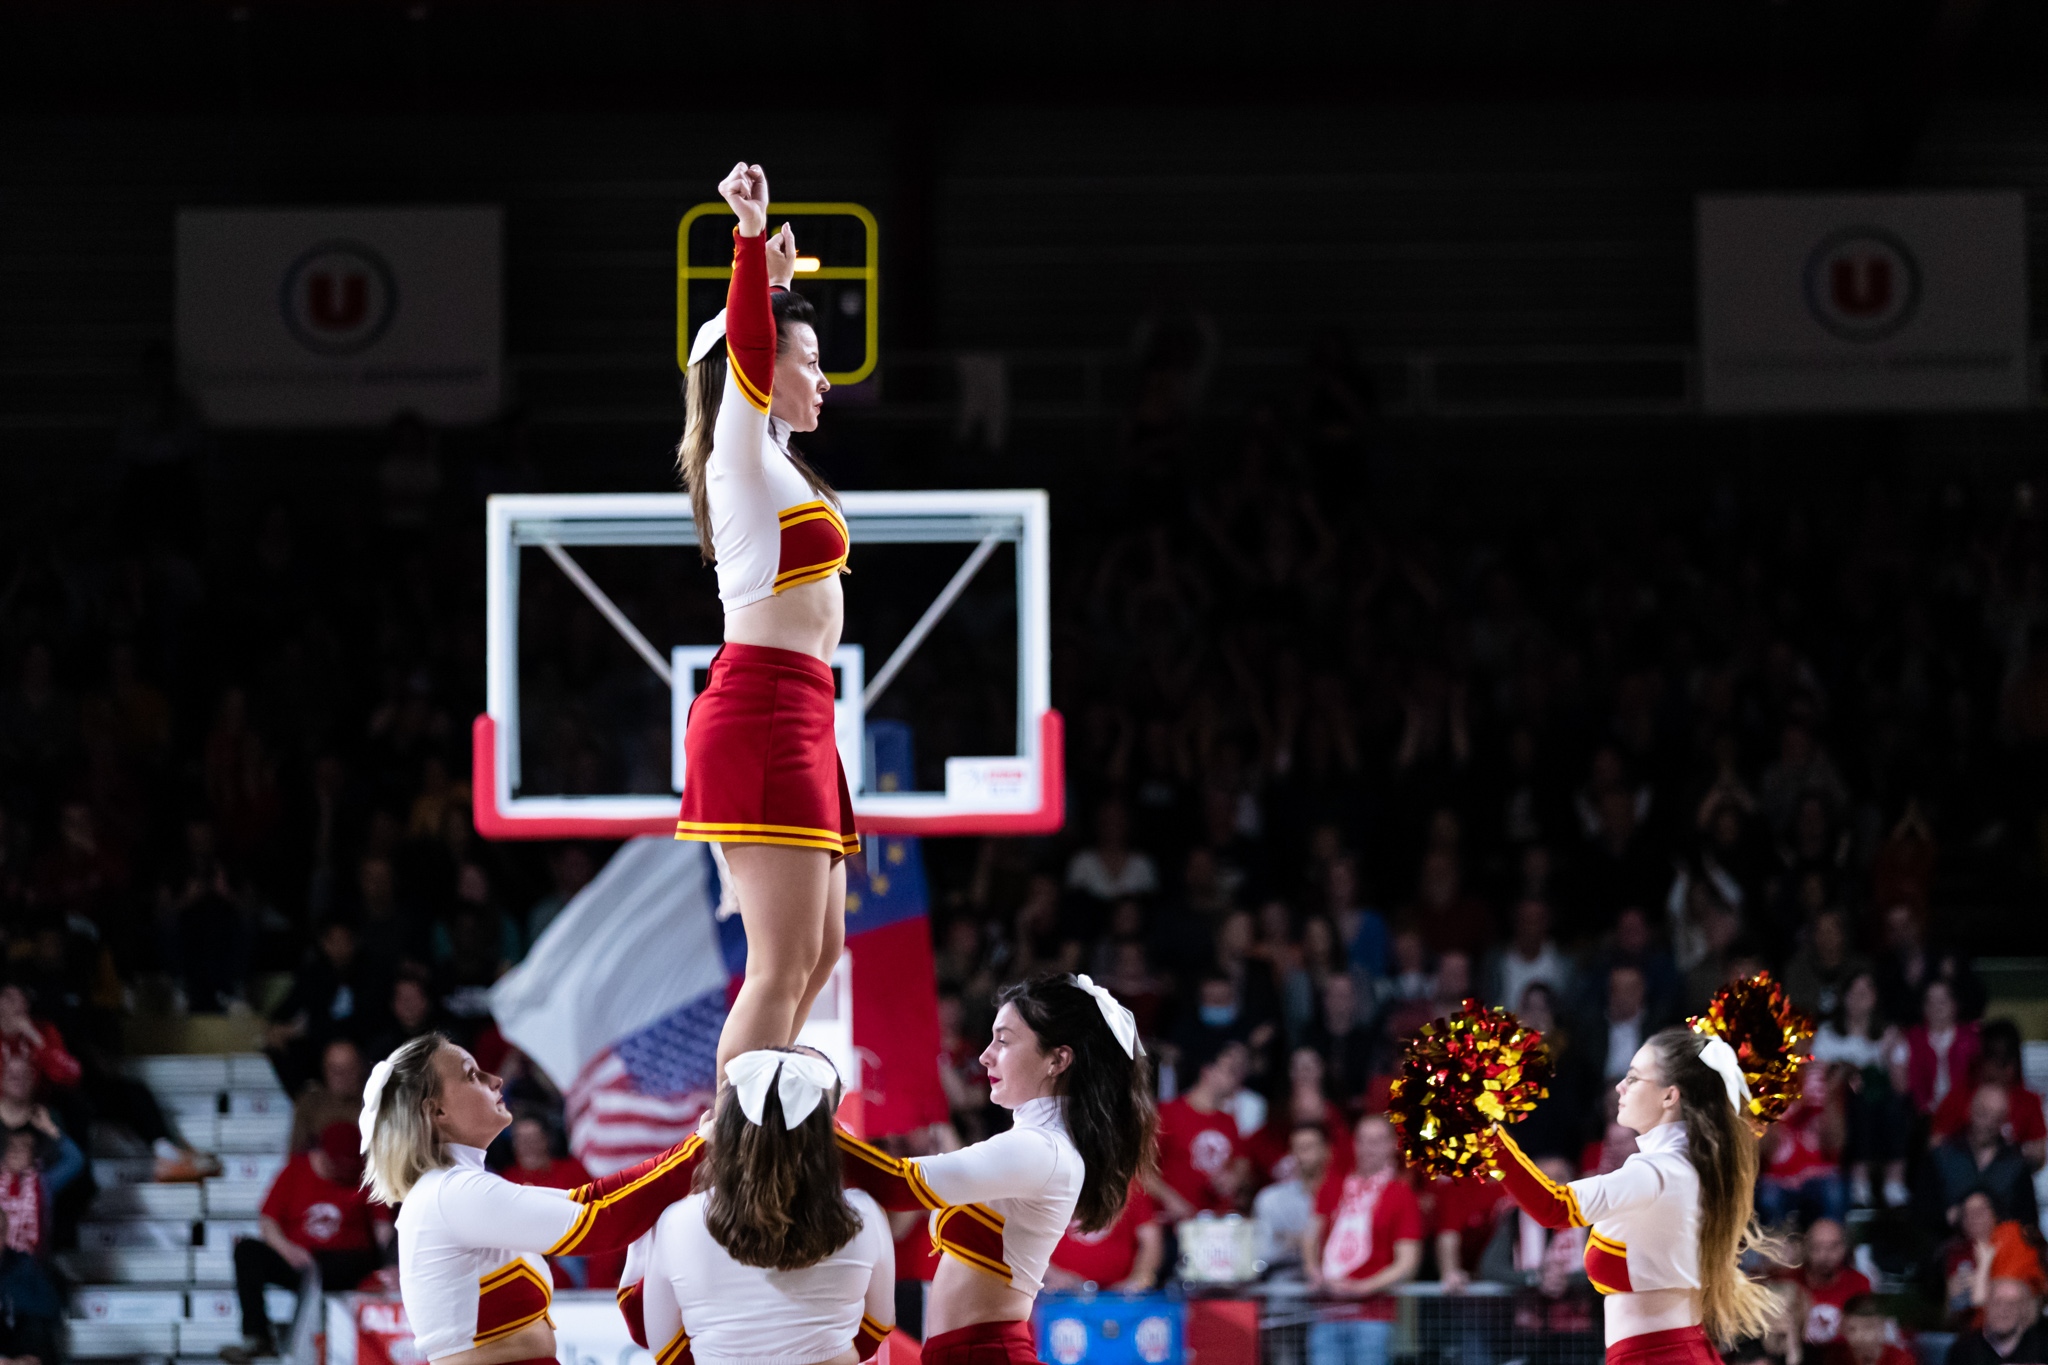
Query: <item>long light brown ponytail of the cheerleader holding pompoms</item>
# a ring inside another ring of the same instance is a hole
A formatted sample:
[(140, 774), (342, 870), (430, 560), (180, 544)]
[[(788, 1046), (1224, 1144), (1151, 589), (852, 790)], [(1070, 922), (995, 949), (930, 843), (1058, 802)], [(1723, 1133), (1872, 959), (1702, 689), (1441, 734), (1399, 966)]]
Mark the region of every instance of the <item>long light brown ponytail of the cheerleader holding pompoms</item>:
[(1757, 1138), (1729, 1103), (1729, 1087), (1700, 1060), (1704, 1033), (1663, 1029), (1651, 1036), (1657, 1070), (1677, 1087), (1686, 1156), (1700, 1175), (1700, 1310), (1706, 1334), (1720, 1345), (1761, 1336), (1778, 1314), (1763, 1283), (1743, 1273), (1743, 1252), (1772, 1254), (1776, 1244), (1755, 1220)]

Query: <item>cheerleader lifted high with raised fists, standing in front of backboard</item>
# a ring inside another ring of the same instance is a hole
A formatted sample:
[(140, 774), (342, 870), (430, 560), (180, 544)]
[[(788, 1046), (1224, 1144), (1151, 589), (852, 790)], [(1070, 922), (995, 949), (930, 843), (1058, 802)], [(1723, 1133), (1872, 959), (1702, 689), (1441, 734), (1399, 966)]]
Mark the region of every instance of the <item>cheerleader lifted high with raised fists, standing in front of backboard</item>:
[[(846, 602), (846, 518), (791, 432), (815, 432), (831, 385), (811, 305), (788, 293), (797, 241), (768, 229), (768, 176), (733, 166), (739, 217), (725, 311), (698, 327), (676, 467), (698, 548), (719, 569), (725, 645), (684, 731), (678, 839), (711, 843), (748, 931), (748, 968), (719, 1036), (725, 1062), (782, 1048), (846, 945), (846, 855), (860, 851), (834, 737), (831, 651)], [(774, 289), (782, 287), (782, 289)]]

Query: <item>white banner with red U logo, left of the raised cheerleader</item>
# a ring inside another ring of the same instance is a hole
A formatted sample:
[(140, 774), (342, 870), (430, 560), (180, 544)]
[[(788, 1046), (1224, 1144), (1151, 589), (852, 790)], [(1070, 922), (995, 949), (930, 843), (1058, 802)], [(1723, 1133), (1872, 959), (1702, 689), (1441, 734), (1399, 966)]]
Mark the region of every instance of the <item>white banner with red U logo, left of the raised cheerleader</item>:
[(182, 209), (184, 387), (219, 426), (483, 422), (502, 237), (496, 207)]

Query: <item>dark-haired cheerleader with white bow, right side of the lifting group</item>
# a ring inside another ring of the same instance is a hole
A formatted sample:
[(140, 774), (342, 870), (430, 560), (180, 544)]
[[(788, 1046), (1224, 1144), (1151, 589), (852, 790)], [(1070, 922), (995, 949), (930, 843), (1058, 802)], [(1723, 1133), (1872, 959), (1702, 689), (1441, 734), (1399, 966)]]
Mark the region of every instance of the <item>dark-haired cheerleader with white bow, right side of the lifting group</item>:
[(944, 1261), (926, 1310), (926, 1365), (1032, 1365), (1032, 1300), (1067, 1224), (1116, 1222), (1153, 1162), (1151, 1085), (1137, 1021), (1087, 976), (1038, 976), (997, 997), (981, 1054), (1010, 1132), (938, 1156), (840, 1138), (846, 1181), (887, 1209), (932, 1209)]

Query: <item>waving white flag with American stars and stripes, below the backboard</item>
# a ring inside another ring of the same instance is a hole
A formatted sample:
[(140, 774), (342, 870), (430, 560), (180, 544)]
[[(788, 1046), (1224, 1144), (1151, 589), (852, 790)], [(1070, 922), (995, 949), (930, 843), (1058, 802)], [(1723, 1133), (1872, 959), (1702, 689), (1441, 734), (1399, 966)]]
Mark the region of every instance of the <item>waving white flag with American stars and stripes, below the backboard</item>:
[(719, 921), (702, 843), (631, 839), (492, 988), (512, 1046), (563, 1085), (569, 1150), (592, 1175), (653, 1156), (711, 1103), (745, 931)]

